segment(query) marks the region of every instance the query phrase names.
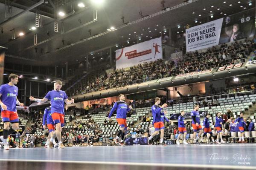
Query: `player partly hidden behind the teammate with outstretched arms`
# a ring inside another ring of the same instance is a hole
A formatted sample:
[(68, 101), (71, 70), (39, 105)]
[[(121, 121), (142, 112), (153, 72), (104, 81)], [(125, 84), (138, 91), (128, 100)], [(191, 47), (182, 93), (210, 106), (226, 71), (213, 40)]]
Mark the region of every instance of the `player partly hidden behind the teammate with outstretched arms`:
[[(52, 120), (52, 113), (51, 113), (51, 107), (47, 107), (44, 109), (44, 117), (43, 117), (43, 128), (46, 129), (46, 124), (47, 128), (49, 130), (49, 135), (47, 138), (47, 142), (45, 144), (45, 148), (52, 148), (52, 146), (49, 145), (50, 139), (56, 137), (54, 130), (55, 130), (55, 125)], [(55, 147), (57, 147), (58, 144), (56, 144), (55, 140), (52, 141)]]

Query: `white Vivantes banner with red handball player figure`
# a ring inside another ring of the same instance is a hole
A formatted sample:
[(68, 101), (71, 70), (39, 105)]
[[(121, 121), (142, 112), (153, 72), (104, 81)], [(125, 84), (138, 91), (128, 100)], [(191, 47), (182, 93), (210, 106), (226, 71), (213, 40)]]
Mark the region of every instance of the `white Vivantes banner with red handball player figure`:
[(161, 37), (116, 50), (116, 69), (163, 58)]

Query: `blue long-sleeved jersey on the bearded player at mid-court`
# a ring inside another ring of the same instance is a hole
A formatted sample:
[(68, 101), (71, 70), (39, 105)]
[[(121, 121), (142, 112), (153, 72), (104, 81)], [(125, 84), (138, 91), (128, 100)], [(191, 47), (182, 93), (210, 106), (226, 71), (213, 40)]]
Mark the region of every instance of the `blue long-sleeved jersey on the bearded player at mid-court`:
[(116, 101), (115, 104), (113, 105), (113, 108), (109, 112), (108, 118), (111, 117), (111, 115), (115, 110), (116, 110), (116, 118), (126, 119), (126, 113), (129, 112), (131, 109), (129, 109), (125, 101)]

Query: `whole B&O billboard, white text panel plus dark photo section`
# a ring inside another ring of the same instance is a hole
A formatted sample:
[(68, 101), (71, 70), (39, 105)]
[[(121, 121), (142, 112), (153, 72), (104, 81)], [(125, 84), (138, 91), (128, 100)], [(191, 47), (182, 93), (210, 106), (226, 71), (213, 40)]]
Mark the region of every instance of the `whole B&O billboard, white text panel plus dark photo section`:
[(254, 9), (186, 29), (186, 51), (209, 48), (255, 35)]

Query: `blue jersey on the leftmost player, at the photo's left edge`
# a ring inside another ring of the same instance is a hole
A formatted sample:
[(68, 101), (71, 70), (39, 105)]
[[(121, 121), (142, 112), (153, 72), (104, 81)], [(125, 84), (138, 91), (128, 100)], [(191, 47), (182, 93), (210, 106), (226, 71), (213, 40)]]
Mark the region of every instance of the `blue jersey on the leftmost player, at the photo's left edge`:
[[(1, 101), (6, 105), (8, 111), (17, 112), (16, 101), (18, 95), (17, 86), (10, 86), (9, 84), (3, 84), (0, 86)], [(3, 108), (1, 107), (1, 112)]]

